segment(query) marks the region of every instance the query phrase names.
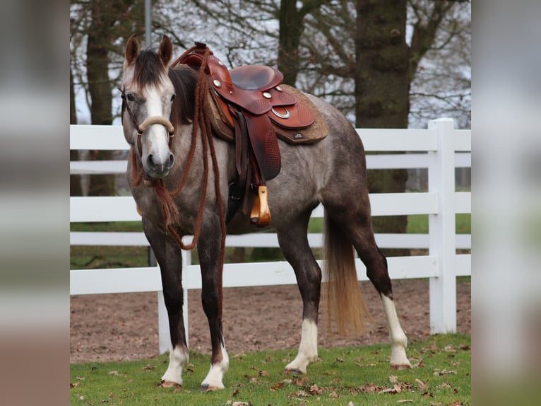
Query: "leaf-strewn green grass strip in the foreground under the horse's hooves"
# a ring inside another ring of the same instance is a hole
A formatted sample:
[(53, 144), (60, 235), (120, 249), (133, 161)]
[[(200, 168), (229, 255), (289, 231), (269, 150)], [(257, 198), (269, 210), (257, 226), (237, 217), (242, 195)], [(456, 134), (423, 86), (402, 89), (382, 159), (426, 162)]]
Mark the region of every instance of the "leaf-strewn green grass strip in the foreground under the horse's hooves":
[(320, 349), (306, 376), (284, 376), (296, 350), (230, 354), (225, 390), (201, 393), (208, 354), (191, 352), (182, 388), (158, 388), (167, 355), (122, 363), (72, 364), (71, 405), (470, 405), (471, 337), (412, 340), (416, 365), (393, 371), (389, 346)]

